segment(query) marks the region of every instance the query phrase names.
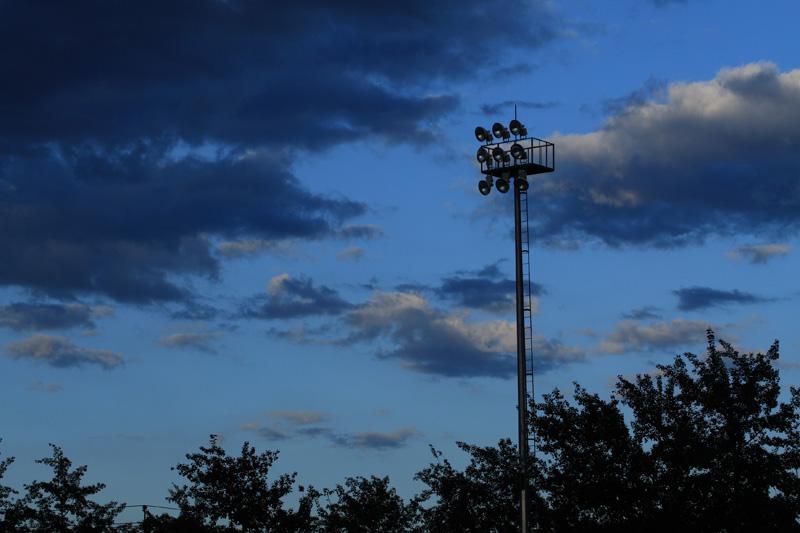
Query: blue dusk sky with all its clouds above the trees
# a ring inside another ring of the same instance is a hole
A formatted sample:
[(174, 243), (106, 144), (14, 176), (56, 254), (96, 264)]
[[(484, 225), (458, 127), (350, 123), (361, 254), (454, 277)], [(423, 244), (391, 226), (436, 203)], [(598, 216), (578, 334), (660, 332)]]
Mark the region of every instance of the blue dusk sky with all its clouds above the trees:
[[(3, 483), (63, 448), (169, 505), (219, 435), (317, 488), (516, 435), (513, 196), (537, 397), (780, 341), (800, 385), (794, 0), (0, 1)], [(139, 510), (123, 518), (134, 519)]]

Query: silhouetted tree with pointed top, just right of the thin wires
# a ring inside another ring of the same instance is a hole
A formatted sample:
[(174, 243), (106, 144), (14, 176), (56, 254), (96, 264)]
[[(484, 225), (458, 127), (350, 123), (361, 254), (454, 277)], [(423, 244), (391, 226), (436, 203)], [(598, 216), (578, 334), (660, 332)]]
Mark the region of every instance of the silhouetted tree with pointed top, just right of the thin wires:
[[(209, 447), (201, 446), (199, 453), (186, 457), (189, 463), (173, 469), (190, 484), (173, 484), (167, 498), (181, 509), (175, 527), (196, 527), (196, 531), (311, 531), (311, 511), (318, 493), (310, 489), (297, 511), (284, 509), (283, 498), (292, 492), (297, 474), (284, 474), (269, 483), (269, 469), (278, 452), (256, 454), (245, 442), (240, 457), (229, 457), (212, 435)], [(218, 526), (220, 521), (228, 525)]]

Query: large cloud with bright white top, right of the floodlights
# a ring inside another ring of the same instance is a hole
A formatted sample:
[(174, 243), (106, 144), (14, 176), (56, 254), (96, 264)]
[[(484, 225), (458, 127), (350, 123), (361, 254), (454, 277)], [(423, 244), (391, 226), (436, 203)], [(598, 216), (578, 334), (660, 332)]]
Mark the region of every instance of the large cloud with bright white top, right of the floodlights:
[(671, 83), (598, 131), (553, 135), (554, 174), (531, 179), (544, 241), (675, 247), (800, 229), (800, 70), (770, 63)]

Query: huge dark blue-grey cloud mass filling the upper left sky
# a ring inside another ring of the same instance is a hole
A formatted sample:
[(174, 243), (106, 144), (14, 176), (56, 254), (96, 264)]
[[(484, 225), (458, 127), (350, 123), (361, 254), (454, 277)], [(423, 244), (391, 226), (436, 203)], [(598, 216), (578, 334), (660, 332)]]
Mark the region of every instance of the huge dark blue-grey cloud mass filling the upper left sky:
[(375, 238), (310, 192), (297, 149), (419, 142), (546, 7), (477, 0), (0, 3), (0, 285), (150, 303), (214, 279), (215, 240)]

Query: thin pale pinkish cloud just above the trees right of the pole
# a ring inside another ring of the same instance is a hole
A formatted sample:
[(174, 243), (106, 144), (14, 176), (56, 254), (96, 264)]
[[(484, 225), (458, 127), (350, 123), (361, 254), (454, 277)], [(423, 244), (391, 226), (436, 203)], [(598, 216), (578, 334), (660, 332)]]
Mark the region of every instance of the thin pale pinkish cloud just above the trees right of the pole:
[(633, 320), (620, 322), (606, 335), (598, 351), (604, 354), (623, 354), (644, 350), (674, 349), (702, 343), (709, 329), (718, 329), (704, 320), (676, 318), (672, 322), (651, 322), (642, 325)]

